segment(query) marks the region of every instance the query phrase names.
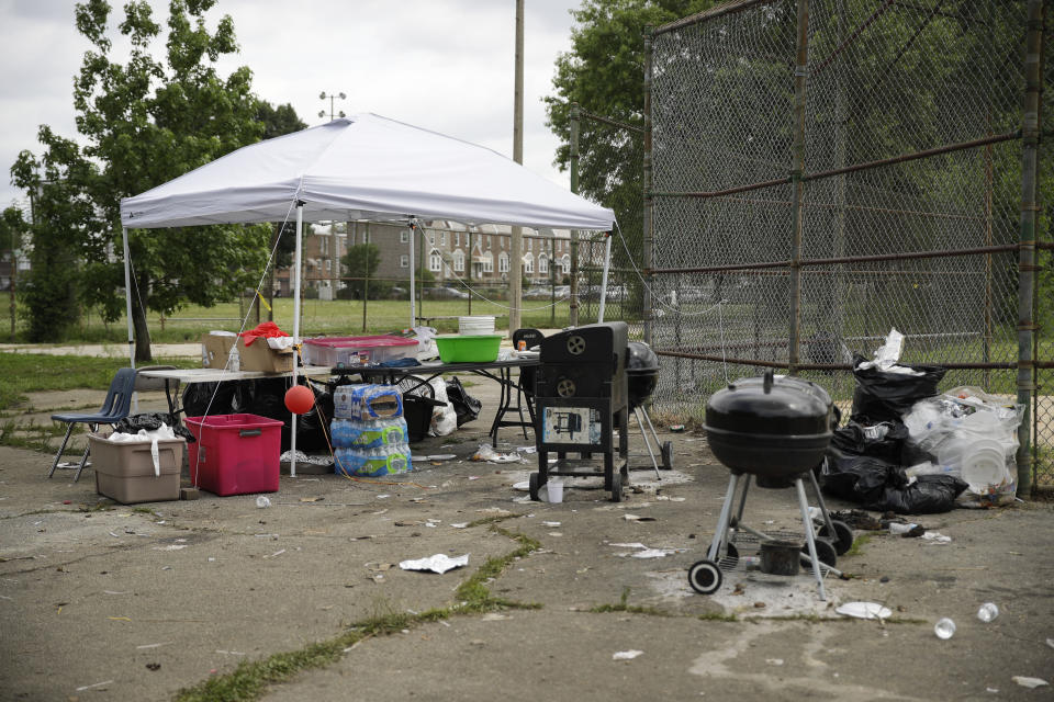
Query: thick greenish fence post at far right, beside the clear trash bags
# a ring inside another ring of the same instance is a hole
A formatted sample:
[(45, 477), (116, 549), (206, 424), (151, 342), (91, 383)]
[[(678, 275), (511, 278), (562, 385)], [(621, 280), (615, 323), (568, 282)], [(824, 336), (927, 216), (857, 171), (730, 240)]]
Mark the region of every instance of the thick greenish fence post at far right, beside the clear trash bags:
[(1035, 367), (1032, 348), (1035, 342), (1035, 218), (1036, 171), (1040, 141), (1040, 91), (1043, 67), (1043, 0), (1029, 0), (1028, 34), (1024, 49), (1024, 111), (1021, 115), (1021, 228), (1018, 249), (1018, 403), (1024, 417), (1018, 427), (1018, 492), (1032, 491), (1032, 411), (1035, 392)]

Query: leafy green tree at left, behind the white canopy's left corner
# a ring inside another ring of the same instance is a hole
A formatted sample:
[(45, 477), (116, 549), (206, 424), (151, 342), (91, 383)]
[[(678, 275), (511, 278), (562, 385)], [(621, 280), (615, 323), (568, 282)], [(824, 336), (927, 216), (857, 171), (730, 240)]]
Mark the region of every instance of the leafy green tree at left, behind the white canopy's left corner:
[[(216, 70), (237, 45), (229, 16), (214, 31), (206, 27), (204, 15), (215, 1), (170, 0), (164, 49), (154, 47), (161, 27), (149, 4), (130, 1), (116, 27), (131, 46), (123, 64), (113, 56), (110, 4), (78, 3), (77, 30), (92, 44), (74, 81), (83, 146), (43, 125), (43, 156), (23, 151), (12, 168), (15, 184), (40, 192), (43, 217), (34, 225), (34, 256), (51, 256), (36, 252), (38, 242), (60, 248), (54, 265), (76, 271), (64, 285), (111, 321), (124, 310), (121, 199), (256, 141), (264, 132), (248, 68), (226, 78)], [(269, 231), (267, 226), (130, 230), (136, 360), (150, 360), (146, 309), (171, 314), (187, 303), (210, 306), (255, 287)], [(45, 273), (33, 264), (31, 285), (43, 287)]]

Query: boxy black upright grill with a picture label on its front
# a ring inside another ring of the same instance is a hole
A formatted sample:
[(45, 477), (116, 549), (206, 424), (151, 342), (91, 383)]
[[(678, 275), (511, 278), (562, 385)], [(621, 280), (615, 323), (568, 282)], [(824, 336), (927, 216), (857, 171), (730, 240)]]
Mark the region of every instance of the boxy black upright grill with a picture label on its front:
[[(530, 499), (551, 475), (596, 476), (586, 467), (603, 455), (604, 489), (621, 500), (629, 482), (626, 356), (629, 329), (625, 321), (585, 325), (547, 337), (535, 372), (535, 442), (538, 472), (530, 474)], [(618, 429), (618, 464), (615, 429)], [(549, 464), (549, 453), (557, 462)], [(578, 461), (568, 458), (579, 454)], [(617, 467), (617, 474), (616, 474)]]

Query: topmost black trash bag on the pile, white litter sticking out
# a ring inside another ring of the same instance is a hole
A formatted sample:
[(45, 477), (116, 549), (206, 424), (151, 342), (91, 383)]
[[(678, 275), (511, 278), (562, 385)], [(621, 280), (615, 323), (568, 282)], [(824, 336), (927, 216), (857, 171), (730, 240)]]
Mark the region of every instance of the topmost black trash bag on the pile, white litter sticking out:
[(862, 369), (865, 362), (861, 355), (853, 358), (853, 376), (856, 389), (853, 393), (853, 414), (851, 419), (860, 424), (876, 424), (883, 421), (900, 421), (920, 399), (937, 396), (937, 385), (948, 373), (940, 365), (900, 365), (921, 375), (889, 373), (878, 369)]

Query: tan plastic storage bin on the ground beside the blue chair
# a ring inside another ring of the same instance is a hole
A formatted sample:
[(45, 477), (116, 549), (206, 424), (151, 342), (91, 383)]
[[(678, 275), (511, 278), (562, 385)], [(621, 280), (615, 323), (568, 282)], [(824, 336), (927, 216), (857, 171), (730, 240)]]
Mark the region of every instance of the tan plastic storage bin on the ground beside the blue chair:
[(179, 499), (179, 474), (187, 441), (164, 439), (157, 442), (158, 468), (149, 441), (116, 442), (102, 434), (89, 434), (91, 466), (96, 472), (96, 491), (123, 505), (164, 502)]

